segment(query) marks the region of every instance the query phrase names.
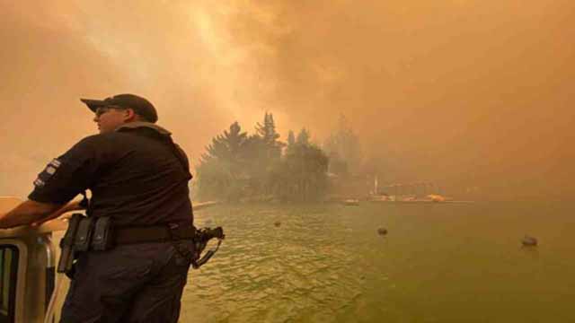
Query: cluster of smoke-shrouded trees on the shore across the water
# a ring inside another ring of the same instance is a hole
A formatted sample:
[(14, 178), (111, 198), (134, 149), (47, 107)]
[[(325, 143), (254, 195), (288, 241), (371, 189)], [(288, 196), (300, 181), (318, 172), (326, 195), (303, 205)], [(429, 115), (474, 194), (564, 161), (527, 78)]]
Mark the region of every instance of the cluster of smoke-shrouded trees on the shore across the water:
[(310, 141), (305, 128), (279, 141), (271, 113), (248, 135), (234, 122), (212, 139), (197, 168), (198, 197), (223, 199), (315, 201), (328, 189), (329, 159)]

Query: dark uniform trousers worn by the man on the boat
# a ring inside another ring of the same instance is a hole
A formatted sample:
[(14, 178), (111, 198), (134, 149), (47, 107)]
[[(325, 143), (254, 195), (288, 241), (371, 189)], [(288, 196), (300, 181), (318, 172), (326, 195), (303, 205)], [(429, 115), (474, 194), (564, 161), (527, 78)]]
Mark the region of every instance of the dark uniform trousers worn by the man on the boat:
[(192, 248), (146, 243), (82, 254), (60, 323), (177, 323)]

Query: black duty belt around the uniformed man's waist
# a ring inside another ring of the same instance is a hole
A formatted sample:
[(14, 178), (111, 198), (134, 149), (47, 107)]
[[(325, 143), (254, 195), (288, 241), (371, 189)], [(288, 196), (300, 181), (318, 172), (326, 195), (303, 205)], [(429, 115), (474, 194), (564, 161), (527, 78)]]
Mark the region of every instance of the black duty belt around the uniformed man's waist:
[(115, 245), (193, 240), (196, 228), (193, 226), (156, 225), (148, 227), (114, 228)]

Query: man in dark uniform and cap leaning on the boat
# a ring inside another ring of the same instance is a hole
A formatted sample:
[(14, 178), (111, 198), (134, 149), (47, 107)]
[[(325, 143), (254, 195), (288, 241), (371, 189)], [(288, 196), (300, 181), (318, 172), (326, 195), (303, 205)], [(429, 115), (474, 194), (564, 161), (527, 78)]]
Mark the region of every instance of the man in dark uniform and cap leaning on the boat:
[(0, 214), (0, 228), (78, 208), (66, 203), (89, 189), (86, 213), (110, 217), (120, 242), (80, 253), (61, 322), (177, 322), (194, 248), (190, 239), (172, 235), (173, 228), (193, 225), (188, 159), (170, 132), (155, 125), (148, 100), (119, 94), (82, 101), (95, 113), (100, 134), (51, 161), (29, 200)]

